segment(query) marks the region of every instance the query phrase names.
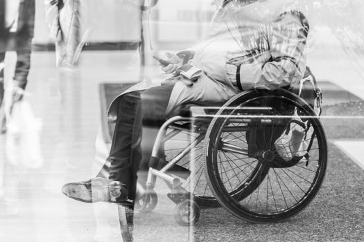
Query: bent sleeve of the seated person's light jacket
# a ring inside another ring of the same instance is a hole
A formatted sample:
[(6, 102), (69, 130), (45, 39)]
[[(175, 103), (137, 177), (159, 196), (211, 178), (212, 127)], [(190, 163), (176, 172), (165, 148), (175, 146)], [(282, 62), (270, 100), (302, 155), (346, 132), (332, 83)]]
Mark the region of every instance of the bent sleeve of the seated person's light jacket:
[(284, 12), (267, 26), (270, 59), (243, 64), (240, 81), (244, 89), (275, 90), (299, 82), (304, 75), (304, 48), (309, 24), (301, 12)]

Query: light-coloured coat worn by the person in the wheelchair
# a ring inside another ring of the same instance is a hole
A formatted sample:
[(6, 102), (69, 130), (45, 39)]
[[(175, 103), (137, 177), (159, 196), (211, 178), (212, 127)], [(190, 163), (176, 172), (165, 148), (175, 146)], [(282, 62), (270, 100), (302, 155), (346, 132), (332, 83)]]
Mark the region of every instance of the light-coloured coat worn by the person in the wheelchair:
[[(309, 24), (295, 2), (258, 0), (238, 6), (239, 1), (227, 1), (214, 17), (207, 39), (191, 48), (195, 51), (191, 63), (205, 73), (197, 82), (207, 86), (211, 82), (220, 83), (227, 91), (216, 93), (216, 100), (226, 98), (223, 94), (234, 94), (232, 90), (237, 91), (239, 85), (243, 90), (275, 90), (300, 82), (306, 68), (304, 48)], [(124, 93), (150, 86), (155, 83), (143, 82)], [(168, 106), (187, 99), (181, 95), (198, 93), (193, 90), (197, 87), (193, 85), (190, 91), (171, 95)], [(208, 87), (205, 91), (209, 91)], [(116, 120), (119, 97), (109, 108), (110, 122)]]

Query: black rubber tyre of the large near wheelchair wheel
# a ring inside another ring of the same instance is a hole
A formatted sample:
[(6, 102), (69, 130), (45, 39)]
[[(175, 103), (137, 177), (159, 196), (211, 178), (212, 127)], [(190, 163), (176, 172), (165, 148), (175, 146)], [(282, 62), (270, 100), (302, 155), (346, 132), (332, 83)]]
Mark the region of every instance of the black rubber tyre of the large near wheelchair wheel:
[[(214, 171), (214, 166), (212, 165), (213, 161), (213, 144), (216, 140), (216, 136), (218, 135), (218, 129), (220, 129), (220, 125), (223, 123), (223, 118), (219, 117), (225, 107), (227, 106), (237, 106), (252, 98), (262, 97), (264, 95), (271, 95), (279, 98), (286, 98), (288, 100), (292, 100), (296, 105), (301, 106), (304, 111), (309, 113), (311, 116), (316, 116), (311, 106), (306, 103), (302, 98), (286, 91), (284, 89), (278, 89), (276, 91), (266, 91), (266, 90), (254, 90), (254, 91), (245, 91), (236, 95), (231, 100), (229, 100), (226, 104), (224, 104), (223, 108), (216, 113), (216, 117), (211, 121), (209, 128), (207, 130), (207, 134), (205, 137), (205, 145), (207, 156), (205, 157), (205, 176), (207, 182), (209, 183), (211, 191), (214, 193), (217, 201), (225, 207), (229, 212), (231, 212), (234, 216), (241, 218), (245, 221), (249, 221), (252, 223), (267, 223), (267, 222), (281, 222), (285, 221), (292, 216), (297, 215), (301, 212), (304, 207), (309, 205), (315, 195), (318, 193), (320, 186), (322, 185), (324, 174), (327, 168), (327, 141), (325, 138), (324, 130), (322, 128), (322, 124), (318, 118), (312, 118), (312, 124), (315, 128), (315, 138), (318, 140), (318, 147), (320, 147), (320, 169), (318, 169), (317, 174), (315, 174), (315, 182), (311, 185), (309, 192), (307, 192), (303, 201), (299, 201), (295, 206), (290, 208), (288, 211), (283, 213), (276, 214), (254, 214), (249, 210), (245, 209), (243, 206), (236, 203), (234, 199), (231, 198), (228, 194), (226, 194), (226, 189), (219, 184), (218, 178), (216, 177), (216, 171)], [(225, 191), (224, 191), (225, 189)]]

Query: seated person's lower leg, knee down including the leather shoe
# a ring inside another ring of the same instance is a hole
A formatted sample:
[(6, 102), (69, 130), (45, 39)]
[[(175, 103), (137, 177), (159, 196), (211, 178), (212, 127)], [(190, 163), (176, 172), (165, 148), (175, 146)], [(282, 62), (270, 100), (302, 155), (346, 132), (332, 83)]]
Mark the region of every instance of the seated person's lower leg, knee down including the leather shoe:
[(66, 196), (85, 203), (122, 203), (128, 198), (131, 180), (130, 152), (139, 104), (139, 91), (126, 93), (119, 98), (110, 156), (96, 178), (64, 185), (62, 192)]

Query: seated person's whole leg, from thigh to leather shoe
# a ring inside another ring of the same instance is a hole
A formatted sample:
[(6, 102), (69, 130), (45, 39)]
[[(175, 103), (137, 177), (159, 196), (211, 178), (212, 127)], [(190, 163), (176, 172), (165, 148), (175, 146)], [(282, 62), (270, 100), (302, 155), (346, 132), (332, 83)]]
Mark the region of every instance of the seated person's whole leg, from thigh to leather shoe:
[[(139, 167), (142, 170), (148, 169), (150, 153), (157, 134), (154, 132), (148, 136), (149, 146), (144, 147), (141, 160), (142, 124), (159, 127), (164, 122), (166, 115), (174, 113), (173, 111), (178, 106), (189, 102), (225, 101), (234, 94), (235, 91), (228, 86), (211, 82), (208, 78), (200, 78), (193, 86), (186, 86), (182, 82), (155, 86), (142, 92), (140, 98), (135, 96), (135, 93), (124, 95), (119, 102), (112, 150), (103, 169), (96, 178), (64, 185), (62, 189), (64, 194), (87, 203), (96, 201), (119, 203), (127, 196), (133, 199), (137, 184), (137, 171)], [(144, 139), (146, 138), (144, 137)], [(146, 176), (141, 176), (139, 180), (143, 184), (145, 179)], [(96, 195), (94, 196), (94, 194)], [(112, 196), (116, 199), (110, 199)]]

